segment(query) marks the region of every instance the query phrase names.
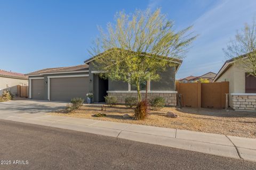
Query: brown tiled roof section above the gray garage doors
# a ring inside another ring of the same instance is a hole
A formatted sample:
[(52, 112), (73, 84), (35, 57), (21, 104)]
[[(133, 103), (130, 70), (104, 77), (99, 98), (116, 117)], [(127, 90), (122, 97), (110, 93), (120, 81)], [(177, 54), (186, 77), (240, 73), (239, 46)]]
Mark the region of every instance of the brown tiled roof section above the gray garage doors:
[(76, 65), (76, 66), (68, 66), (68, 67), (55, 67), (55, 68), (49, 68), (49, 69), (42, 69), (35, 72), (28, 73), (26, 75), (43, 75), (43, 74), (49, 74), (49, 73), (65, 73), (65, 72), (79, 72), (79, 71), (87, 71), (89, 66), (87, 64), (83, 65)]

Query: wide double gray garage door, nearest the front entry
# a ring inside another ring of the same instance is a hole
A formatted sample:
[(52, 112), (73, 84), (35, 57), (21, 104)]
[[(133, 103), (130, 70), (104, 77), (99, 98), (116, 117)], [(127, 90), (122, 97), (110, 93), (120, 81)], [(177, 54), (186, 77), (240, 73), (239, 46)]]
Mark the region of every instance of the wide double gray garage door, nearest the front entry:
[(88, 84), (88, 77), (51, 78), (51, 100), (70, 101), (70, 99), (74, 97), (86, 99)]

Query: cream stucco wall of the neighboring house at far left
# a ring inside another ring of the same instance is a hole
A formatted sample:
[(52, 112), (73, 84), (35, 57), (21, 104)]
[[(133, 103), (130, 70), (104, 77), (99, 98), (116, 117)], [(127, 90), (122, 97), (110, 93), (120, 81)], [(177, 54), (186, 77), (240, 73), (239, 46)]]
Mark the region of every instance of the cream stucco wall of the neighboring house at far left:
[(22, 86), (28, 86), (28, 80), (23, 79), (13, 79), (13, 78), (6, 78), (6, 77), (0, 77), (0, 95), (2, 95), (3, 90), (10, 90), (13, 95), (17, 94), (17, 85)]

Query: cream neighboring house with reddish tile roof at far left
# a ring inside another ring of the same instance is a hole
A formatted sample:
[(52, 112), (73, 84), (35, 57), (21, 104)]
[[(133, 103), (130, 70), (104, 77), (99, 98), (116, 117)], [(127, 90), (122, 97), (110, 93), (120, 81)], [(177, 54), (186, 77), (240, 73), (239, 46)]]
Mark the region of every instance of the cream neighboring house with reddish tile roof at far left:
[(28, 86), (28, 77), (25, 74), (0, 70), (0, 95), (4, 90), (17, 95), (17, 86)]

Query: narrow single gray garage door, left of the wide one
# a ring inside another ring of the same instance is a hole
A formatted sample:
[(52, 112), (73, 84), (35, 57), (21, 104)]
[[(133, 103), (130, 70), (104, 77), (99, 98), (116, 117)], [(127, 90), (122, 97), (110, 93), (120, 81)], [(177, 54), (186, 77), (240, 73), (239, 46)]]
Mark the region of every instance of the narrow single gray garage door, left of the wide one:
[(44, 100), (44, 79), (31, 80), (31, 98)]

